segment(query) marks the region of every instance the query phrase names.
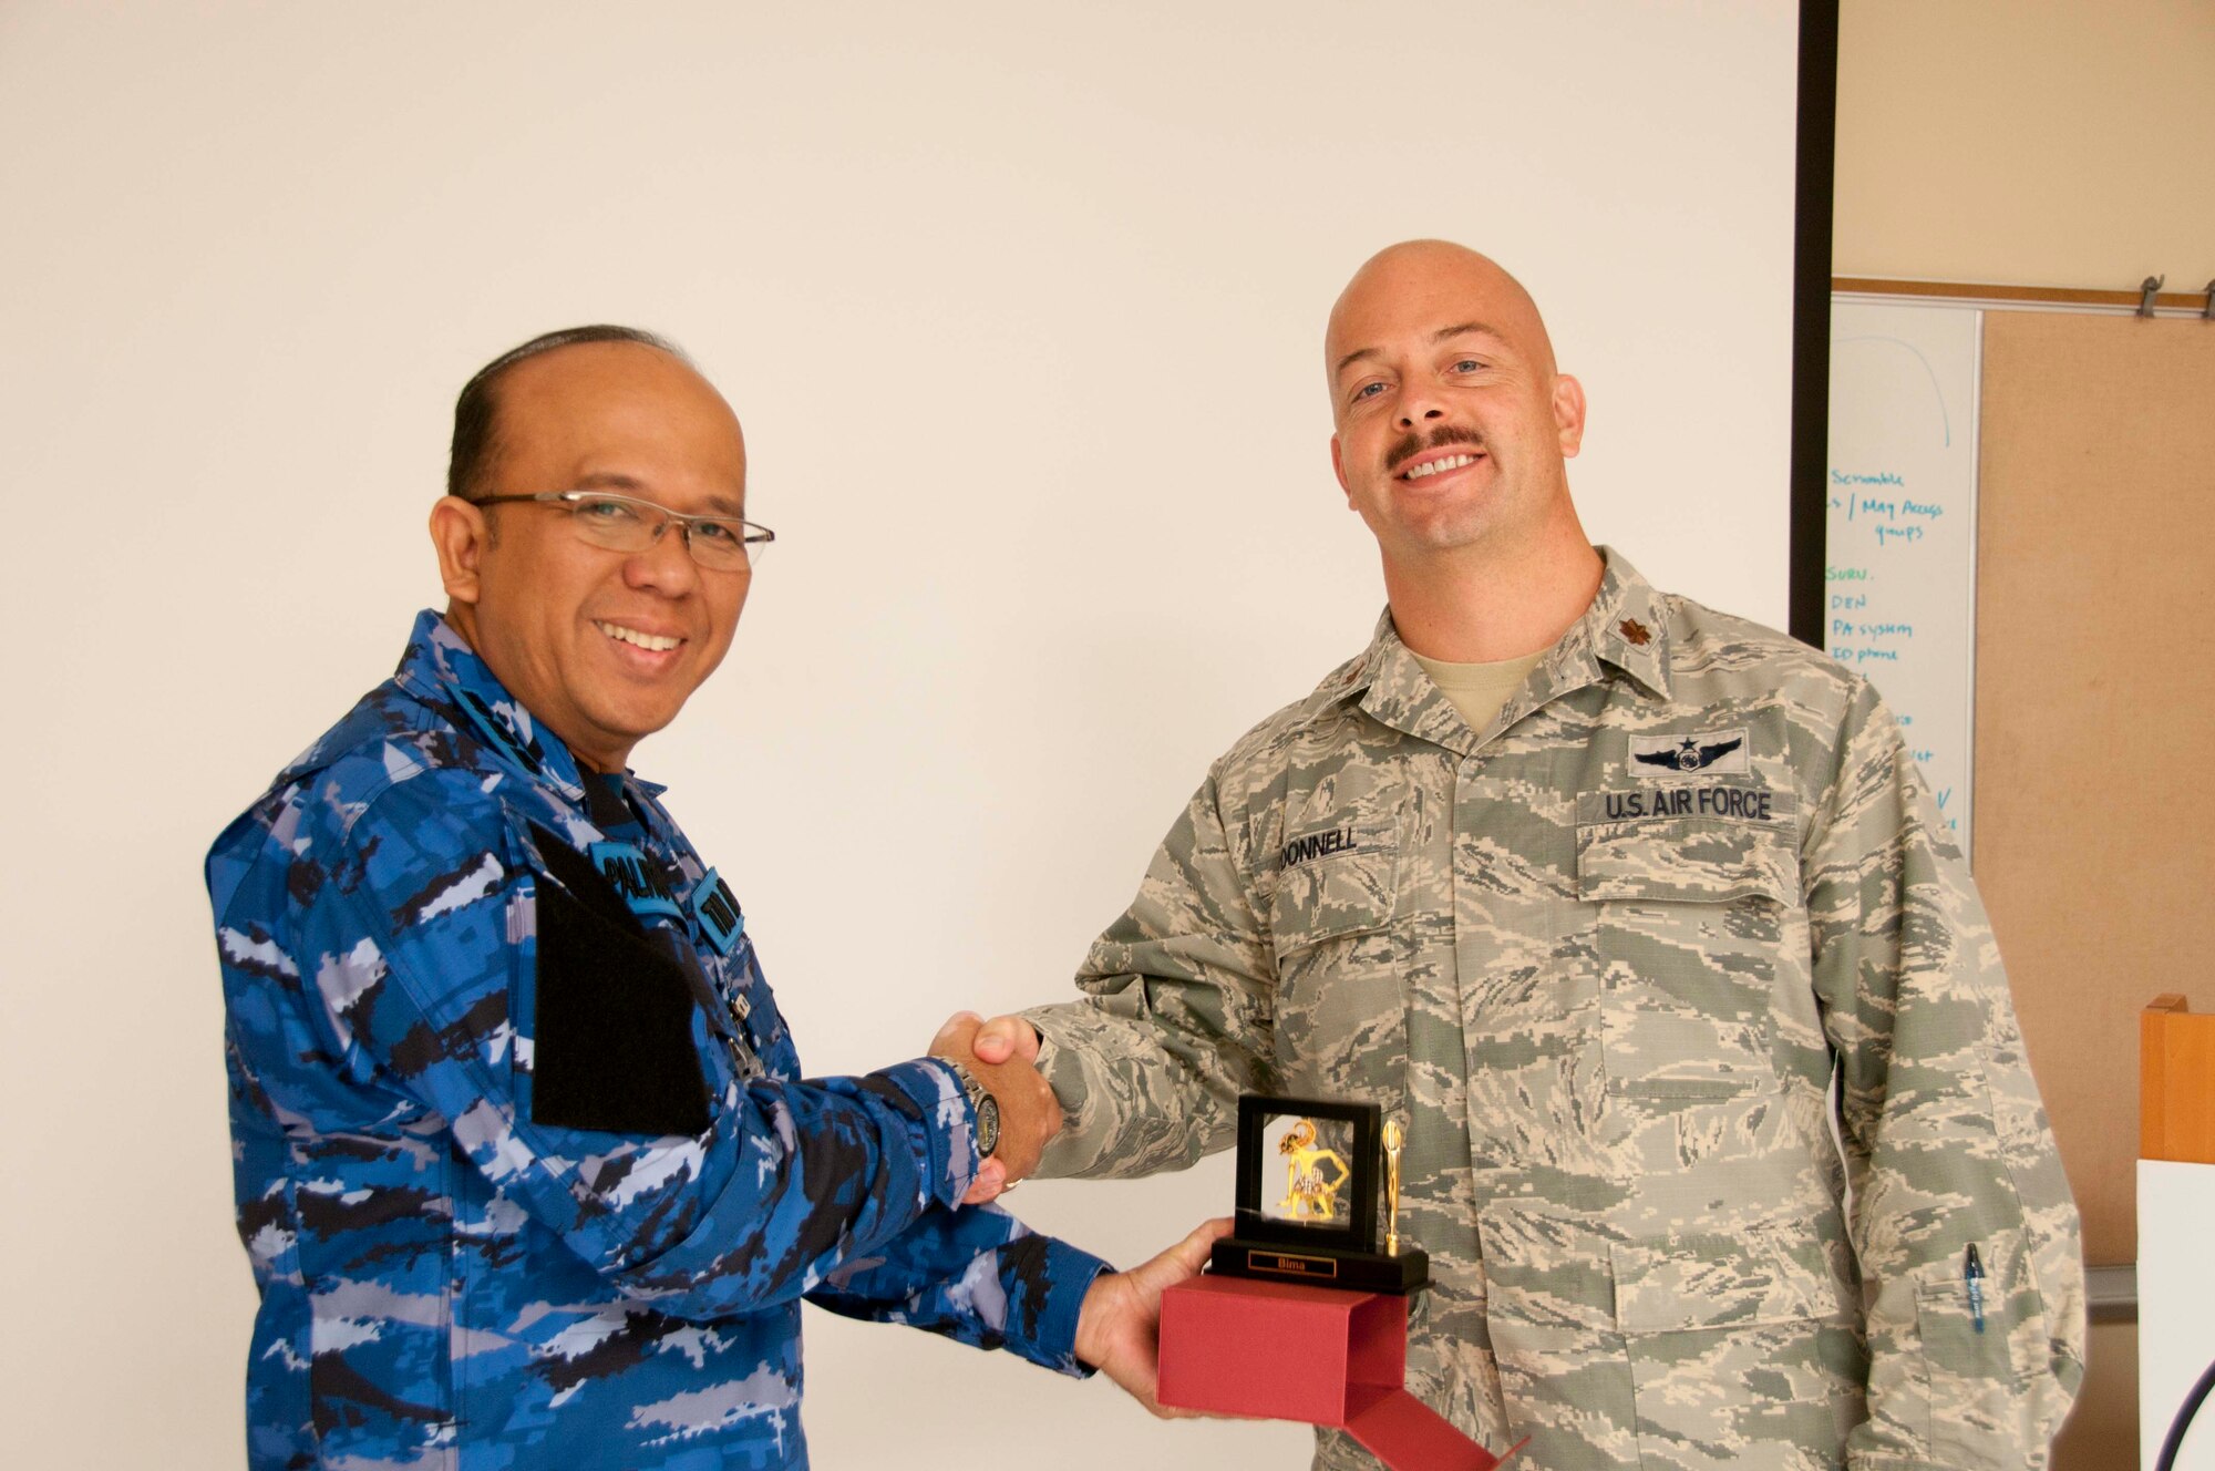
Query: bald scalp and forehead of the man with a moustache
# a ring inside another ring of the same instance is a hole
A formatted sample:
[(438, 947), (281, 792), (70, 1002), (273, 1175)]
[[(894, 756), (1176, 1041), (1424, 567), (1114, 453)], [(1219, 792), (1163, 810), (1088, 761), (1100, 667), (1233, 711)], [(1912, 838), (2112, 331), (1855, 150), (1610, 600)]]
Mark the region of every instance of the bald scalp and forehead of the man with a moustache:
[(1409, 321), (1433, 323), (1442, 337), (1453, 328), (1482, 328), (1511, 343), (1537, 374), (1555, 374), (1546, 319), (1500, 261), (1451, 239), (1404, 239), (1362, 261), (1331, 304), (1322, 368), (1333, 403), (1338, 381)]

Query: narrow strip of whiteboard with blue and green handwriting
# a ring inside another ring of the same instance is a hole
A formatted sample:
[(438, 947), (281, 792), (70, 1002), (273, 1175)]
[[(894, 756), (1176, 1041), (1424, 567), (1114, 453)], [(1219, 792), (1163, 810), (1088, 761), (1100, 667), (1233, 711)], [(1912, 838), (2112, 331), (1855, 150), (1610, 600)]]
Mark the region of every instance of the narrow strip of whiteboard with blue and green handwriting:
[(1900, 718), (1969, 851), (1982, 312), (1832, 299), (1823, 645)]

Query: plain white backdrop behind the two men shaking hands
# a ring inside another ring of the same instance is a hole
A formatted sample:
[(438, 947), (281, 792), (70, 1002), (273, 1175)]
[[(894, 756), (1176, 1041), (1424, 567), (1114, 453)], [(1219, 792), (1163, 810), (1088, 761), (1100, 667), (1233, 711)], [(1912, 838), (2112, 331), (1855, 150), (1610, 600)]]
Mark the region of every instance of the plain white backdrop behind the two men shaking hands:
[[(481, 361), (633, 321), (744, 419), (782, 541), (638, 767), (862, 1070), (1063, 995), (1205, 762), (1364, 642), (1320, 330), (1391, 239), (1548, 308), (1595, 536), (1783, 620), (1792, 55), (1788, 0), (0, 4), (11, 1460), (241, 1460), (199, 855), (434, 600)], [(1229, 1176), (1017, 1203), (1132, 1261)], [(808, 1334), (824, 1467), (1302, 1462)]]

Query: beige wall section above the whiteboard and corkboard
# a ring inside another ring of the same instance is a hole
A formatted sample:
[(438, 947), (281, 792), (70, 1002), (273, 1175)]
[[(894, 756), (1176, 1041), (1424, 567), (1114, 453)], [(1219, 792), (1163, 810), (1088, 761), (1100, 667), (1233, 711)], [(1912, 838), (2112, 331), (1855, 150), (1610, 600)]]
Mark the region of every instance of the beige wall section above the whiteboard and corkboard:
[(2215, 277), (2215, 0), (1843, 0), (1836, 272)]

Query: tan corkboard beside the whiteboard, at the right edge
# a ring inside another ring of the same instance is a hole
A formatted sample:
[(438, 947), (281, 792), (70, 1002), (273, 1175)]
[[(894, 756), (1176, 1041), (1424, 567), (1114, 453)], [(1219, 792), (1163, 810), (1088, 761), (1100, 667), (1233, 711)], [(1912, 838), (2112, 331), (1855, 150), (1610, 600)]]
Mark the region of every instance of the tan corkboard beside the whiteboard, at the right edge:
[(2215, 323), (1987, 312), (1976, 882), (2084, 1261), (2137, 1258), (2137, 1012), (2215, 1010)]

